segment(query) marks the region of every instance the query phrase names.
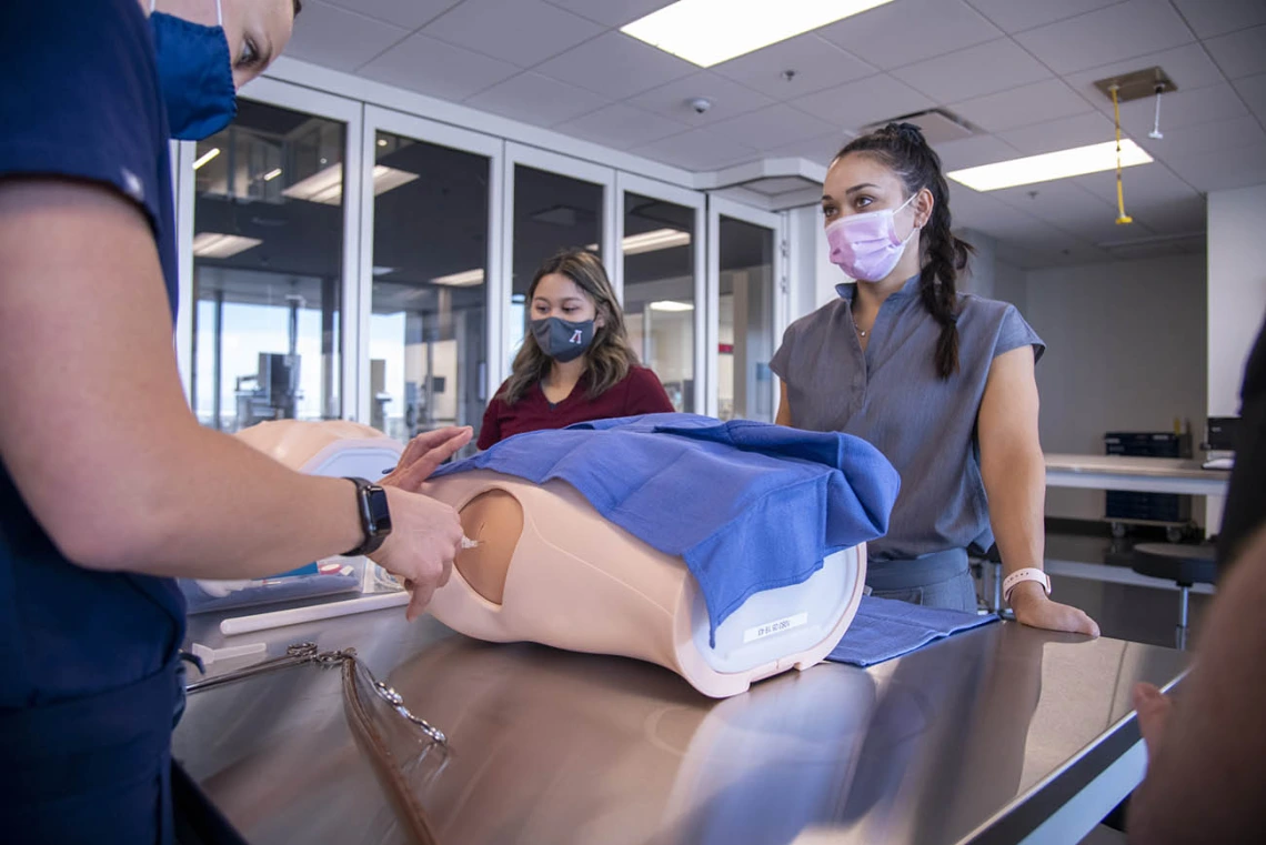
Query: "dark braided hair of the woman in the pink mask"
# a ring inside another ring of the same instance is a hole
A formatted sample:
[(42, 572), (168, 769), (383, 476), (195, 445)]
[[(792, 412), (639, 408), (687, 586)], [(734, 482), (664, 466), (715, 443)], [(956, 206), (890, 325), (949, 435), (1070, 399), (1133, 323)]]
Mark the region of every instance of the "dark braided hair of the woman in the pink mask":
[(924, 187), (932, 192), (932, 218), (919, 234), (923, 259), (919, 297), (941, 324), (937, 374), (950, 378), (958, 372), (958, 273), (966, 269), (967, 257), (975, 249), (950, 231), (950, 186), (941, 172), (941, 157), (928, 145), (919, 128), (909, 123), (890, 123), (856, 138), (836, 158), (848, 153), (874, 156), (889, 167), (901, 177), (906, 197)]

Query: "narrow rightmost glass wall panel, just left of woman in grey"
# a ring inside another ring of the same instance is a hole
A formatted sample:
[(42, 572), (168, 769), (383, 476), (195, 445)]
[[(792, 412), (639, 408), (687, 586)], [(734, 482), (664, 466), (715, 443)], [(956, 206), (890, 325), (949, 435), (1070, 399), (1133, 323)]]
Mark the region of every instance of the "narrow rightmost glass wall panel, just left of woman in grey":
[(718, 416), (774, 421), (774, 230), (722, 215)]

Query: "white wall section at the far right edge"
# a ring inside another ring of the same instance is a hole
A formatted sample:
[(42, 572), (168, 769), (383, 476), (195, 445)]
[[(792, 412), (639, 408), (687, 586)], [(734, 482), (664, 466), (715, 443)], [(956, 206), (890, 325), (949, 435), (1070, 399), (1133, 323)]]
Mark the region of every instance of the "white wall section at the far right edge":
[(1209, 195), (1208, 309), (1209, 416), (1233, 416), (1266, 315), (1266, 185)]

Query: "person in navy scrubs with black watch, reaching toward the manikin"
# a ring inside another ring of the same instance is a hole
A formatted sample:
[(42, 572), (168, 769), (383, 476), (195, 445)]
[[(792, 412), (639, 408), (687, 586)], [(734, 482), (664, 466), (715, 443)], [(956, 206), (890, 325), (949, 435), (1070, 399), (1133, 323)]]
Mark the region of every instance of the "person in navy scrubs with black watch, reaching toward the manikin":
[(460, 548), (456, 512), (415, 491), (468, 429), (422, 435), (381, 487), (349, 484), (203, 429), (184, 400), (168, 139), (225, 126), (237, 87), (285, 47), (298, 10), (299, 0), (0, 3), (10, 845), (175, 840), (172, 793), (191, 783), (171, 762), (185, 636), (173, 577), (263, 577), (366, 553), (411, 583), (411, 617)]

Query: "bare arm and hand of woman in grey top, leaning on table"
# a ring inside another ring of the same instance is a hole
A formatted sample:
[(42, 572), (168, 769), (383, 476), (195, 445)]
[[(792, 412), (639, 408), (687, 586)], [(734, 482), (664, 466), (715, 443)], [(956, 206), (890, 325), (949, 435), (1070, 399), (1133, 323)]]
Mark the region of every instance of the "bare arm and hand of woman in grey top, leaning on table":
[[(1038, 393), (1032, 347), (998, 355), (977, 415), (980, 472), (989, 496), (1003, 569), (1043, 568), (1046, 530), (1046, 460), (1038, 440)], [(1037, 582), (1012, 591), (1015, 616), (1027, 625), (1099, 635), (1099, 626), (1080, 610), (1046, 597)]]

